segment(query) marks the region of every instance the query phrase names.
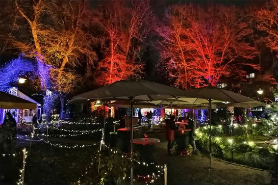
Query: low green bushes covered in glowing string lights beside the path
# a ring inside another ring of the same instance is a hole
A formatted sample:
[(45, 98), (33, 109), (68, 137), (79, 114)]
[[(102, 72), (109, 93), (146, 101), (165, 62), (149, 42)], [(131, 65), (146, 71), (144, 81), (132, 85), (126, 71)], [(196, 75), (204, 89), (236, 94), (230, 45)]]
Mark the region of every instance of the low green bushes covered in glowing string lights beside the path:
[[(198, 149), (203, 152), (209, 152), (208, 130), (206, 128), (198, 128), (196, 136), (196, 145)], [(259, 148), (254, 142), (248, 141), (246, 136), (247, 135), (236, 137), (213, 136), (213, 155), (230, 161), (232, 157), (231, 151), (233, 150), (233, 161), (236, 163), (263, 169), (273, 168), (275, 149), (273, 147)]]

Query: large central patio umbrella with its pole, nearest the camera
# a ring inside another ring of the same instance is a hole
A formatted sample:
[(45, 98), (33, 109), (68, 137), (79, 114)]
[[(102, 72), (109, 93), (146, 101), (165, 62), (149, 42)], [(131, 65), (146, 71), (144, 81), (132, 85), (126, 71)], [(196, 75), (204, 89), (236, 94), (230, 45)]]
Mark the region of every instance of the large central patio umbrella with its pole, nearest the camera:
[[(177, 97), (194, 97), (194, 94), (186, 93), (184, 90), (176, 89), (166, 85), (135, 80), (118, 81), (113, 84), (78, 95), (87, 99), (129, 99), (133, 110), (134, 100), (160, 100)], [(131, 111), (131, 153), (133, 153), (133, 111)], [(132, 155), (131, 155), (132, 156)], [(131, 169), (131, 184), (133, 184), (133, 171)]]

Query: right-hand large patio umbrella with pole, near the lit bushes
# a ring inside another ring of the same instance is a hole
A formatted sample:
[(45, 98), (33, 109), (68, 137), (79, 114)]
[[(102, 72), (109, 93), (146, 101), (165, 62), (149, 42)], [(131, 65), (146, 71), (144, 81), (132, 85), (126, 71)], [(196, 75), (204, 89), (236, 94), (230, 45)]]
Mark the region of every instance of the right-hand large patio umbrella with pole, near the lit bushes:
[[(192, 99), (194, 103), (198, 101), (206, 101), (209, 102), (209, 119), (210, 119), (210, 169), (211, 169), (211, 160), (212, 160), (212, 154), (211, 154), (211, 103), (216, 101), (229, 101), (233, 103), (241, 103), (246, 101), (255, 101), (252, 98), (248, 98), (246, 96), (234, 93), (232, 91), (224, 90), (224, 89), (218, 89), (213, 86), (207, 86), (203, 88), (197, 88), (197, 89), (191, 89), (186, 90), (186, 93), (194, 94), (197, 98), (179, 98), (185, 101), (189, 101), (189, 99)], [(204, 98), (205, 97), (205, 98)], [(190, 101), (189, 101), (190, 102)], [(202, 103), (206, 103), (202, 102)]]

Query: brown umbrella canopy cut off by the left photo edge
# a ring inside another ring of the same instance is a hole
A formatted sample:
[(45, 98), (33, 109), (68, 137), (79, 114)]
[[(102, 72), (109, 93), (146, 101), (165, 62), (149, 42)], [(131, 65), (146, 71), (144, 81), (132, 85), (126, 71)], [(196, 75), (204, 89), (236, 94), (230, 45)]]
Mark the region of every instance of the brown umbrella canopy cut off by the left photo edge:
[(0, 91), (1, 109), (37, 109), (37, 104)]

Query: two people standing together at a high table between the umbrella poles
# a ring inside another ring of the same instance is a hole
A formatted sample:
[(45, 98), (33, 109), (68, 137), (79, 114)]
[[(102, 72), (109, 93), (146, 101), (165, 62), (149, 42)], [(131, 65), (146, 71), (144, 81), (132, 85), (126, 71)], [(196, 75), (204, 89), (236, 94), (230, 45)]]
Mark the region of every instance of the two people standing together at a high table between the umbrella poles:
[[(197, 154), (198, 149), (196, 148), (196, 144), (195, 144), (195, 126), (194, 126), (194, 122), (192, 120), (192, 118), (189, 116), (188, 112), (185, 112), (184, 114), (184, 118), (183, 118), (184, 122), (187, 123), (186, 128), (189, 129), (189, 144), (192, 146), (193, 154)], [(174, 115), (170, 115), (169, 119), (165, 120), (166, 122), (166, 139), (168, 141), (167, 144), (167, 152), (168, 155), (172, 154), (172, 148), (174, 146), (174, 131), (179, 129), (179, 126), (175, 125), (175, 116)]]

